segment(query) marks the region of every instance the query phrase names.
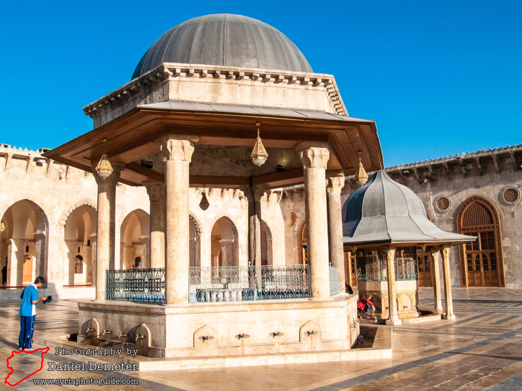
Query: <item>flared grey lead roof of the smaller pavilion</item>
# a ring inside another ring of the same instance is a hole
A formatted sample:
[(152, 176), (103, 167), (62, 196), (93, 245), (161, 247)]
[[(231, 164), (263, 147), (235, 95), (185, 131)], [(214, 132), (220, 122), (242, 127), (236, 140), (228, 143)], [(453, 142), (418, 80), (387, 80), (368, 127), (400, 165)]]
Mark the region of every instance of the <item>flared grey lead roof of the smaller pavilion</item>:
[(343, 206), (346, 245), (371, 243), (457, 243), (473, 236), (445, 232), (427, 217), (420, 198), (406, 186), (377, 171)]

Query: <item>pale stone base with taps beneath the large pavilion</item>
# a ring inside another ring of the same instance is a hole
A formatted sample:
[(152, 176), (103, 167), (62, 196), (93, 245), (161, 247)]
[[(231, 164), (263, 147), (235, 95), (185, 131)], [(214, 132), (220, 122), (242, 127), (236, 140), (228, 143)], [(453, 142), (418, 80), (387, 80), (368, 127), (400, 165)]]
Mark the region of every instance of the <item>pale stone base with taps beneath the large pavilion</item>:
[[(180, 305), (79, 301), (78, 341), (122, 349), (132, 346), (140, 356), (151, 358), (341, 352), (359, 336), (356, 304), (357, 295), (346, 294)], [(241, 360), (235, 361), (242, 365)]]

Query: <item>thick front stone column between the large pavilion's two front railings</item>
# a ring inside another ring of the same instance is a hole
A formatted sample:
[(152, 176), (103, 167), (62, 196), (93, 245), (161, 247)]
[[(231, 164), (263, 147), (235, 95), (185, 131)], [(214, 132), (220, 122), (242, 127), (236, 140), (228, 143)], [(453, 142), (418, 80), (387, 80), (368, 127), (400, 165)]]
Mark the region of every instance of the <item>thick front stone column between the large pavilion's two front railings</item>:
[(188, 303), (188, 166), (199, 138), (169, 135), (165, 160), (165, 304)]

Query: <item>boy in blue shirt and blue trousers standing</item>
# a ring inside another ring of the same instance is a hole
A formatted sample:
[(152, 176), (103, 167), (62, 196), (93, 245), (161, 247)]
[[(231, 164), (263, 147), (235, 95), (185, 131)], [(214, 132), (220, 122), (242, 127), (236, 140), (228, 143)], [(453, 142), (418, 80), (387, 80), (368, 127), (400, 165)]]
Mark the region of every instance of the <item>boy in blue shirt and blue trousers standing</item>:
[(34, 284), (23, 288), (20, 295), (22, 303), (20, 304), (20, 336), (18, 337), (18, 349), (31, 349), (31, 339), (34, 334), (34, 320), (36, 319), (36, 304), (46, 299), (46, 297), (38, 298), (38, 288), (45, 284), (43, 277), (37, 277)]

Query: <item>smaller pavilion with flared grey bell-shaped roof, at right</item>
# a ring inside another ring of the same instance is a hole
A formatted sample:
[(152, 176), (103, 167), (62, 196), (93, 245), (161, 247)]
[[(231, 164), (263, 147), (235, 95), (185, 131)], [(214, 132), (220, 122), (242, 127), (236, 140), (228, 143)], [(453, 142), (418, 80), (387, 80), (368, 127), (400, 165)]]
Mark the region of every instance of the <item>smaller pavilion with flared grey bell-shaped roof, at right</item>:
[(435, 312), (443, 313), (439, 258), (443, 255), (446, 319), (455, 319), (449, 277), (449, 248), (476, 238), (448, 233), (433, 224), (417, 195), (384, 170), (355, 190), (343, 205), (342, 232), (348, 259), (357, 264), (361, 298), (371, 300), (389, 324), (419, 316), (417, 248), (428, 249)]

